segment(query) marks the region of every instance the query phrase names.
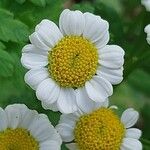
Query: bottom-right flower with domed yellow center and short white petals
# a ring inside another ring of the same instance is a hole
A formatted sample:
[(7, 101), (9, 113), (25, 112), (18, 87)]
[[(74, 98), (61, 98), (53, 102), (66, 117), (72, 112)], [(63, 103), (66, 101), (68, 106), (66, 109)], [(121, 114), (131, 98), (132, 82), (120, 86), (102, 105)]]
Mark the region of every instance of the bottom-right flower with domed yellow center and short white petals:
[(141, 131), (131, 128), (139, 114), (126, 109), (121, 119), (103, 103), (83, 111), (61, 115), (56, 129), (69, 150), (142, 150)]

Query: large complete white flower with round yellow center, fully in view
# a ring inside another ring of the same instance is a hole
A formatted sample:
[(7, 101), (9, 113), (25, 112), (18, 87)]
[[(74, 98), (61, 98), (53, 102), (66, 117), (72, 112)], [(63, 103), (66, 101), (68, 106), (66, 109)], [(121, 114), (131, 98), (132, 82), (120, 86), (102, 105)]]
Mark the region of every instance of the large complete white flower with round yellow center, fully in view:
[(30, 69), (25, 82), (45, 109), (72, 113), (83, 104), (77, 96), (82, 91), (98, 103), (112, 95), (112, 84), (123, 79), (124, 50), (106, 45), (108, 28), (100, 16), (68, 9), (60, 15), (59, 28), (49, 20), (36, 26), (21, 62)]

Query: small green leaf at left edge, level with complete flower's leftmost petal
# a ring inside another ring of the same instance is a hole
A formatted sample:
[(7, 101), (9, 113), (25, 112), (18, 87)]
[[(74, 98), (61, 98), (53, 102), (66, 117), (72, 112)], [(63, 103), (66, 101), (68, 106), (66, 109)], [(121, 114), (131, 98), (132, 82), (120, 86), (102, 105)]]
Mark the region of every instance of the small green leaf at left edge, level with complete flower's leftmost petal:
[(9, 77), (13, 74), (13, 59), (11, 55), (0, 49), (0, 76)]

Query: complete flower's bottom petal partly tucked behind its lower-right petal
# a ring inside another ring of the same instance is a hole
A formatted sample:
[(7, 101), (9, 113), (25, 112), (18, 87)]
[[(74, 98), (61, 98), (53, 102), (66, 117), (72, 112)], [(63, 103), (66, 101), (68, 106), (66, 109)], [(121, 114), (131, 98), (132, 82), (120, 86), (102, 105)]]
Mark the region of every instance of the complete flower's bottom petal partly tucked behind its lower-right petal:
[(85, 88), (78, 88), (76, 92), (77, 105), (83, 112), (89, 113), (103, 106), (103, 103), (94, 102), (93, 100), (91, 100)]

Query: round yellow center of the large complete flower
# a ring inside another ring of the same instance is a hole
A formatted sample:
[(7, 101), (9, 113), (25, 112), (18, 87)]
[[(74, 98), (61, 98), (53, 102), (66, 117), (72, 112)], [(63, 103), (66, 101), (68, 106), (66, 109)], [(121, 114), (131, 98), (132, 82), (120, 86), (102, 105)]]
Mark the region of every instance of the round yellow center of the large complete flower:
[(82, 36), (66, 36), (49, 52), (51, 77), (63, 87), (81, 87), (96, 73), (97, 48)]

